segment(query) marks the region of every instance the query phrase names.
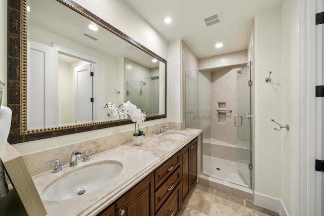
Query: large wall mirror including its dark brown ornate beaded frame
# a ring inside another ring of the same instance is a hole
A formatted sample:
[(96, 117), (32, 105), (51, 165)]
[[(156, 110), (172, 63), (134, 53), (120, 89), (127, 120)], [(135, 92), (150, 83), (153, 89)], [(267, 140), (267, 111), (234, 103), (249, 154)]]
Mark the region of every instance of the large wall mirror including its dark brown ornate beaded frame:
[(167, 61), (70, 0), (8, 1), (9, 142), (165, 118)]

